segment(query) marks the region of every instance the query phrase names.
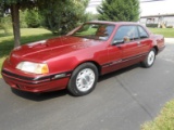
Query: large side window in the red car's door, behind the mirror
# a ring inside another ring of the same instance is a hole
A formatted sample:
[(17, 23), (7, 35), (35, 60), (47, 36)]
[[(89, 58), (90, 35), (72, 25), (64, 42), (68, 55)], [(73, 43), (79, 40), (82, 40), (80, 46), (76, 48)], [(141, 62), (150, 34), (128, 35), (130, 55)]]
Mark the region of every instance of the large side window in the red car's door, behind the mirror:
[(114, 37), (114, 41), (134, 41), (139, 39), (137, 26), (121, 26)]

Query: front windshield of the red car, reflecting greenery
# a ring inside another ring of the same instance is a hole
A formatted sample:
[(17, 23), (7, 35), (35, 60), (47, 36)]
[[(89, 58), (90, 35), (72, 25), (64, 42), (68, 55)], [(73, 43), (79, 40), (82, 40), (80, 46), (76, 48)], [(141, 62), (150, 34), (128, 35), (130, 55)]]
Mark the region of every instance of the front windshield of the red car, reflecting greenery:
[(108, 40), (114, 29), (114, 25), (108, 24), (84, 24), (72, 36), (96, 40)]

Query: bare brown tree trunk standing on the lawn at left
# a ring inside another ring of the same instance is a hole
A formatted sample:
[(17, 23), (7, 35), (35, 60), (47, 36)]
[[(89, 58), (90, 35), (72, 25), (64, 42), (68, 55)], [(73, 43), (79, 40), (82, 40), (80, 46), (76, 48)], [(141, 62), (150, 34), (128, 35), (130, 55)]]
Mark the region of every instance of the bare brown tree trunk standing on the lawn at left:
[(14, 35), (14, 48), (21, 44), (21, 31), (20, 31), (20, 5), (11, 5), (11, 15), (13, 24), (13, 35)]

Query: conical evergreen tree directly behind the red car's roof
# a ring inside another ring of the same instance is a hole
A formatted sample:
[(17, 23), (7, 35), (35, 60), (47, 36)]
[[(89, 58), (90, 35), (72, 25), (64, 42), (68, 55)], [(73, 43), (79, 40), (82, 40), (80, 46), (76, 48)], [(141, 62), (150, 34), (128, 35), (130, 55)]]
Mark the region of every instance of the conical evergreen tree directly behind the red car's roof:
[(137, 22), (139, 0), (103, 0), (98, 6), (99, 20), (112, 22)]

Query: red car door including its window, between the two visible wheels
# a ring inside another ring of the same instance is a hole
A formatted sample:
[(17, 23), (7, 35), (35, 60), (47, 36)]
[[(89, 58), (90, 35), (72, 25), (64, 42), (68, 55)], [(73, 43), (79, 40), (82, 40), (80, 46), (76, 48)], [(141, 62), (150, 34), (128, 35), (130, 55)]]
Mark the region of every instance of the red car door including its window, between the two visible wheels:
[[(115, 44), (115, 46), (114, 46)], [(120, 69), (140, 61), (141, 43), (136, 25), (124, 25), (119, 27), (113, 38), (112, 50), (115, 50), (114, 69)], [(119, 55), (117, 55), (119, 53)], [(110, 55), (111, 50), (110, 50)], [(117, 57), (120, 56), (120, 58)]]

